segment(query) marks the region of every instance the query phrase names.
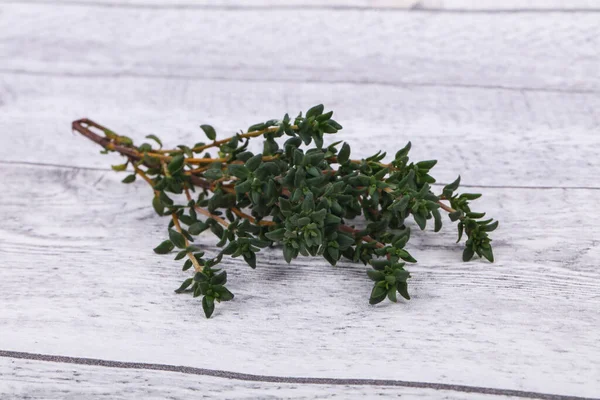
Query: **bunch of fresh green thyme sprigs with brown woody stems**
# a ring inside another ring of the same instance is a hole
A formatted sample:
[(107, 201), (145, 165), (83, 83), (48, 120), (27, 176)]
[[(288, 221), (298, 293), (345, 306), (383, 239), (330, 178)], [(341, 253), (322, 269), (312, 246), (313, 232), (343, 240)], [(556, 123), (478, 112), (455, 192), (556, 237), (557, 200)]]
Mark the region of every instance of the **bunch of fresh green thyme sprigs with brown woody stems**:
[[(136, 146), (88, 119), (73, 122), (73, 129), (103, 146), (102, 153), (126, 157), (112, 166), (131, 171), (124, 183), (141, 178), (150, 185), (152, 207), (170, 219), (168, 238), (154, 252), (174, 252), (183, 270), (193, 271), (176, 292), (202, 296), (206, 317), (215, 302), (234, 297), (227, 271), (217, 268), (223, 258), (241, 257), (256, 268), (257, 253), (276, 244), (288, 263), (302, 255), (322, 256), (331, 265), (342, 257), (370, 265), (370, 304), (386, 297), (396, 302), (397, 293), (410, 299), (406, 263), (416, 260), (406, 248), (409, 220), (421, 230), (429, 222), (437, 232), (441, 211), (458, 223), (457, 242), (466, 236), (464, 261), (475, 255), (494, 261), (488, 233), (498, 222), (471, 210), (480, 194), (457, 193), (460, 177), (435, 194), (430, 172), (436, 161), (411, 162), (410, 142), (389, 163), (383, 162), (386, 153), (358, 160), (348, 143), (325, 146), (324, 136), (342, 129), (332, 116), (317, 105), (222, 140), (213, 127), (201, 125), (207, 141), (171, 150), (155, 135)], [(261, 153), (248, 151), (252, 139), (262, 140)], [(219, 239), (217, 254), (206, 255), (194, 244), (205, 231)]]

